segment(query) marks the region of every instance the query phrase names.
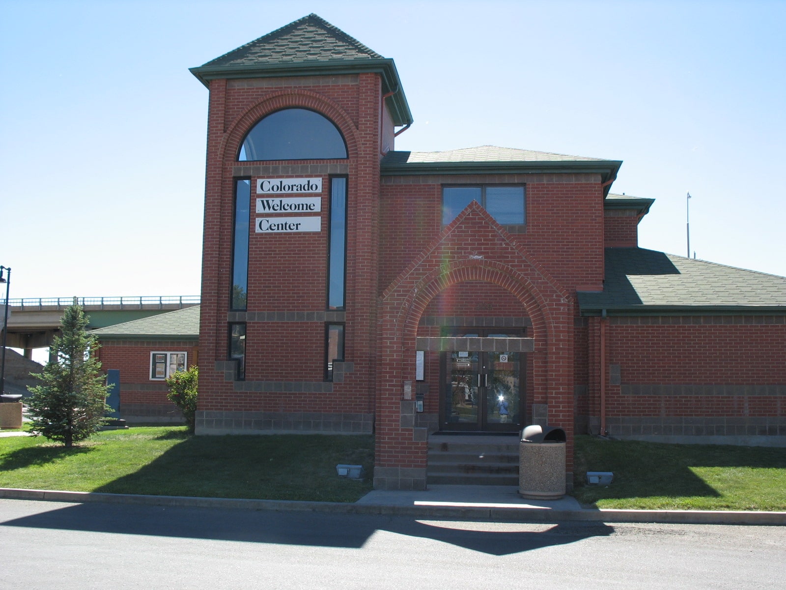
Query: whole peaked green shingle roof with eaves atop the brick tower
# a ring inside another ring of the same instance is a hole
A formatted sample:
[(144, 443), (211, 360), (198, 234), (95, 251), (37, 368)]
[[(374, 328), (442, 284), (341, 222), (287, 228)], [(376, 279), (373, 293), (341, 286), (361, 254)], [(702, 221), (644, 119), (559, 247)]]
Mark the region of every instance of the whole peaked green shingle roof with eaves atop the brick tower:
[(412, 114), (393, 60), (370, 50), (354, 37), (311, 13), (267, 35), (190, 68), (205, 86), (211, 79), (311, 76), (375, 72), (382, 77), (387, 108), (396, 125), (412, 123)]

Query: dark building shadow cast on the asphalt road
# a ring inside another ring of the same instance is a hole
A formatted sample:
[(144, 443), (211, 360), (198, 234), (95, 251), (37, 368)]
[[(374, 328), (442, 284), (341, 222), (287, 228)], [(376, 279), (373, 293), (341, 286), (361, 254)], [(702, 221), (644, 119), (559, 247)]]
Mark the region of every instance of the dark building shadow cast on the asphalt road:
[[(152, 507), (85, 503), (0, 523), (36, 529), (151, 535), (311, 547), (362, 548), (378, 531), (432, 539), (488, 555), (511, 555), (589, 537), (608, 537), (612, 526), (596, 522), (505, 525), (417, 520), (377, 514), (330, 514)], [(510, 532), (510, 529), (514, 529)]]

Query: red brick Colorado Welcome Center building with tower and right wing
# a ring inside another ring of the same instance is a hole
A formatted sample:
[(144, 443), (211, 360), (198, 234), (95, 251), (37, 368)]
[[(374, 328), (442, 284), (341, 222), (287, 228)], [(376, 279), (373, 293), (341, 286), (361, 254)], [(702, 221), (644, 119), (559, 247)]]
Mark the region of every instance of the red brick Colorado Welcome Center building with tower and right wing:
[(438, 431), (561, 426), (568, 481), (577, 432), (786, 440), (786, 279), (639, 249), (620, 161), (395, 151), (393, 61), (315, 15), (192, 72), (198, 434), (373, 432), (391, 489)]

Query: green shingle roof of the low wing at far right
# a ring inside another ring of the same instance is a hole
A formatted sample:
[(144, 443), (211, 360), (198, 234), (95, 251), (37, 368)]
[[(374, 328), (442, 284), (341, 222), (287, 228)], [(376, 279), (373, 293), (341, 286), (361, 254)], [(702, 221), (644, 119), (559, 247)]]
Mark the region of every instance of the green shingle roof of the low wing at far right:
[(643, 248), (607, 248), (601, 293), (578, 293), (582, 312), (786, 312), (786, 277)]

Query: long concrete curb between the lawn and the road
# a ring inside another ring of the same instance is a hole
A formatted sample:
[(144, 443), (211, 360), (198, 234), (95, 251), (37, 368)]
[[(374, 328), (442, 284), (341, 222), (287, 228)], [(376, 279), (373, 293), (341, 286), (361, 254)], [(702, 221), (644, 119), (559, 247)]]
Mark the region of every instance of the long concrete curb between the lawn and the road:
[(786, 512), (700, 511), (700, 510), (552, 510), (531, 507), (445, 507), (392, 506), (298, 500), (246, 500), (241, 498), (198, 498), (191, 496), (144, 496), (103, 492), (62, 492), (44, 489), (0, 488), (0, 498), (7, 500), (43, 500), (47, 502), (98, 502), (191, 508), (233, 508), (255, 511), (305, 511), (332, 514), (382, 514), (388, 516), (471, 518), (494, 522), (645, 522), (705, 525), (786, 525)]

